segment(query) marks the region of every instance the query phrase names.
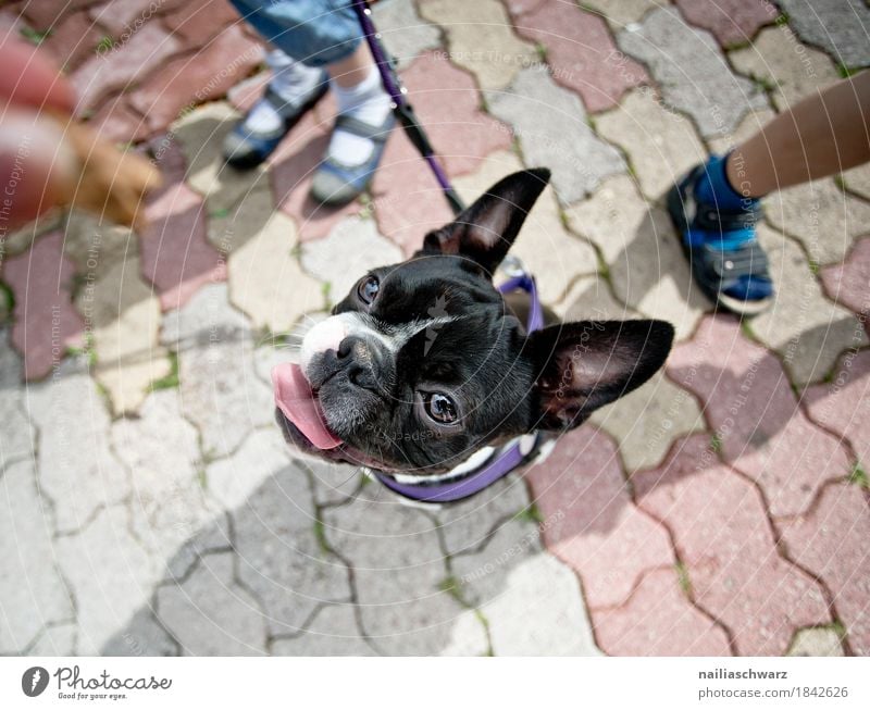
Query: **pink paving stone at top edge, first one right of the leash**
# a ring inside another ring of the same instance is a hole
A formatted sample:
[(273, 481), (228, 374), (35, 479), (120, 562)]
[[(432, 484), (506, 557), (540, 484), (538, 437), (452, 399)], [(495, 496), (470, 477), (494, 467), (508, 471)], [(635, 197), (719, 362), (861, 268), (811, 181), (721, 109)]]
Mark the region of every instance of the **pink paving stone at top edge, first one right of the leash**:
[(641, 64), (618, 53), (607, 23), (573, 3), (546, 3), (514, 24), (520, 36), (547, 48), (556, 82), (579, 94), (593, 113), (617, 105), (626, 90), (649, 80)]

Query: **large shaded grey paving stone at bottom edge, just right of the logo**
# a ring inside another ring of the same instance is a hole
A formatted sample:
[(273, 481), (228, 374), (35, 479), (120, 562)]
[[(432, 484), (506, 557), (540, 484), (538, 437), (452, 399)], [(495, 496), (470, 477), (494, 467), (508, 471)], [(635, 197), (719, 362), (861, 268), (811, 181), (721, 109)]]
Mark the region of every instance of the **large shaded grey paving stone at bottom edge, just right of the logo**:
[(265, 619), (256, 599), (234, 580), (233, 557), (203, 557), (184, 583), (158, 589), (158, 618), (185, 656), (266, 652)]

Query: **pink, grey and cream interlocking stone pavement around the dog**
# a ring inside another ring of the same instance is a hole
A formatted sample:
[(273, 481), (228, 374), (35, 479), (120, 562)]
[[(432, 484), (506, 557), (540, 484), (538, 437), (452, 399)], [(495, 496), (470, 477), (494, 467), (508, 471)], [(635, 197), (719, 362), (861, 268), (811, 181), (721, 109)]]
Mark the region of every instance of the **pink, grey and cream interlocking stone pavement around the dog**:
[(865, 3), (776, 4), (377, 3), (465, 200), (551, 169), (515, 248), (546, 303), (678, 331), (647, 385), (439, 510), (294, 458), (270, 385), (451, 219), (407, 138), (319, 208), (332, 97), (266, 164), (223, 164), (269, 76), (225, 0), (4, 7), (165, 179), (141, 234), (78, 211), (0, 233), (0, 653), (870, 653), (870, 169), (766, 200), (779, 298), (744, 324), (698, 294), (661, 201), (870, 64)]

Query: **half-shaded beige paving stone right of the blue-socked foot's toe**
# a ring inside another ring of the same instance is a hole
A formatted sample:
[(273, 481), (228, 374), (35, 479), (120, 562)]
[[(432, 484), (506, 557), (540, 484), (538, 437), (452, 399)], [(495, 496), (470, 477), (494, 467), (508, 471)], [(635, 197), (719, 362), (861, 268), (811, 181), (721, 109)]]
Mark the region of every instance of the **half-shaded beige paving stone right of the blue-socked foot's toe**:
[(868, 344), (863, 325), (852, 311), (830, 301), (799, 247), (767, 225), (758, 239), (768, 253), (780, 298), (753, 319), (753, 334), (779, 352), (792, 382), (822, 379), (847, 348)]

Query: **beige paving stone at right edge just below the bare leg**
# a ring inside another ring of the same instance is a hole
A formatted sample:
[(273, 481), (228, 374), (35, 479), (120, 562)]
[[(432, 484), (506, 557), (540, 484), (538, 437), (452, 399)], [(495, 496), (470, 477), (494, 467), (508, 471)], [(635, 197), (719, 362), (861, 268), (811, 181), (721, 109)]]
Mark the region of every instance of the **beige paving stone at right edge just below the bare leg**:
[(765, 200), (765, 215), (825, 265), (843, 261), (855, 239), (867, 234), (870, 204), (826, 178), (773, 192)]

